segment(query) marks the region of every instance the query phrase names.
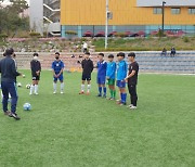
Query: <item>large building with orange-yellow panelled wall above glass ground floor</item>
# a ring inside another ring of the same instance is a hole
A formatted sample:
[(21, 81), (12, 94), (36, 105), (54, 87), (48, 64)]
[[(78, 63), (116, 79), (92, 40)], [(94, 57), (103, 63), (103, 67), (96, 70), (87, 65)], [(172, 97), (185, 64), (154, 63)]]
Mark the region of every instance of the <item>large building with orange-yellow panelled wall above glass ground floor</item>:
[[(109, 0), (112, 31), (151, 31), (161, 28), (161, 0)], [(78, 37), (105, 31), (106, 0), (61, 0), (62, 37), (74, 30)], [(195, 0), (166, 0), (165, 30), (195, 34)]]

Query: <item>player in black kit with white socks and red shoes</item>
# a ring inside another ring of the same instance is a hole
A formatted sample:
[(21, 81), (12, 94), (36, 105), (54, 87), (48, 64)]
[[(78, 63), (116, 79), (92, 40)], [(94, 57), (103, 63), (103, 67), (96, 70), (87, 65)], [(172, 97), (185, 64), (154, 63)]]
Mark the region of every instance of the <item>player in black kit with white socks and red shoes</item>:
[(81, 84), (81, 91), (79, 94), (84, 94), (84, 84), (86, 80), (88, 82), (88, 91), (87, 95), (90, 94), (90, 89), (91, 89), (91, 73), (93, 72), (93, 62), (89, 59), (90, 53), (86, 52), (84, 53), (84, 60), (81, 62), (82, 66), (82, 84)]

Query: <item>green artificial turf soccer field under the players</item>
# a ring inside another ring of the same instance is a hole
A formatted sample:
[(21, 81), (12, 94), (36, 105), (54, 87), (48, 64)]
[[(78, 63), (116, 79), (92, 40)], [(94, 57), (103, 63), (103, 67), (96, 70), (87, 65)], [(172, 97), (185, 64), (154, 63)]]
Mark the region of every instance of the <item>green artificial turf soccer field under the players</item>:
[(41, 74), (39, 95), (29, 97), (24, 73), (22, 119), (0, 114), (0, 167), (195, 166), (195, 76), (140, 75), (132, 112), (95, 97), (95, 74), (89, 97), (78, 94), (79, 73), (65, 73), (65, 94), (53, 94), (51, 72)]

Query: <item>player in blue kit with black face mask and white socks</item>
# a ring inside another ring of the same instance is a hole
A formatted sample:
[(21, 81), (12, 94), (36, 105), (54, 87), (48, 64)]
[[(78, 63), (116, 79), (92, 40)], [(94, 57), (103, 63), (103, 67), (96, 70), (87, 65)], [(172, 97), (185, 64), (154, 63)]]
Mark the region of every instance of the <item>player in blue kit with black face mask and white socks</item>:
[(52, 69), (53, 69), (53, 93), (56, 94), (56, 84), (57, 80), (61, 81), (61, 94), (64, 93), (64, 63), (60, 60), (60, 53), (55, 53), (55, 61), (52, 63)]

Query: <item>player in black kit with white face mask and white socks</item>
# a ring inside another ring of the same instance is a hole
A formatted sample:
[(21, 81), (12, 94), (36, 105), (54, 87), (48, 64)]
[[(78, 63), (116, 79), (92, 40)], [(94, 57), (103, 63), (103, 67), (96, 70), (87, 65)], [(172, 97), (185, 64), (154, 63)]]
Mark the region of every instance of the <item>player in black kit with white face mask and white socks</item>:
[(30, 62), (30, 69), (31, 69), (31, 77), (32, 77), (32, 85), (30, 87), (30, 95), (35, 93), (38, 95), (38, 85), (40, 80), (40, 73), (41, 73), (41, 64), (38, 61), (38, 53), (34, 53), (34, 60)]

